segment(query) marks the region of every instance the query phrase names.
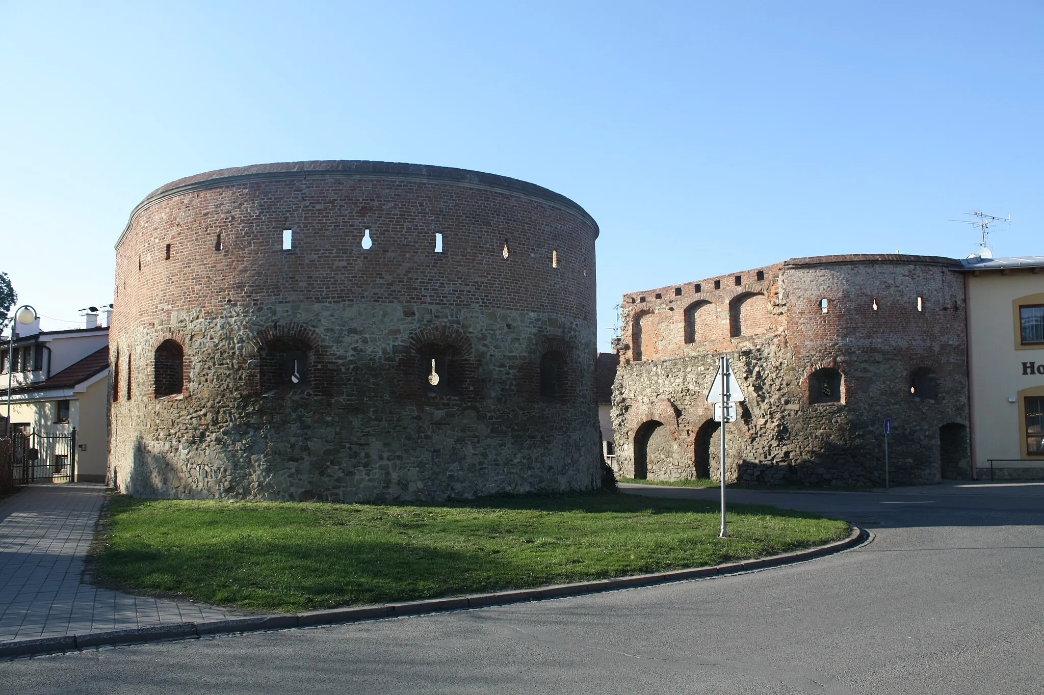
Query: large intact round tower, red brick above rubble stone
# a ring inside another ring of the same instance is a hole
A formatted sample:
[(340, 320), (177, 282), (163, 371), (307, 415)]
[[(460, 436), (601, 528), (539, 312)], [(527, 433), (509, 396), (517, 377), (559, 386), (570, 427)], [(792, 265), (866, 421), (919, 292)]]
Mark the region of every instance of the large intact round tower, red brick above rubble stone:
[(597, 236), (562, 195), (444, 167), (158, 189), (116, 244), (111, 483), (339, 502), (595, 486)]

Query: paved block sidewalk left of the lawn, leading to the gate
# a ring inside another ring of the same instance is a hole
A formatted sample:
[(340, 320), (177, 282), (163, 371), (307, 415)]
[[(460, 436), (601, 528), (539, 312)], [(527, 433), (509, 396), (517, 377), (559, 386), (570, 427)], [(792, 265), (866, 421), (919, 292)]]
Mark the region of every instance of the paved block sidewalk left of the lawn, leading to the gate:
[(0, 643), (234, 617), (80, 582), (100, 484), (29, 485), (0, 500)]

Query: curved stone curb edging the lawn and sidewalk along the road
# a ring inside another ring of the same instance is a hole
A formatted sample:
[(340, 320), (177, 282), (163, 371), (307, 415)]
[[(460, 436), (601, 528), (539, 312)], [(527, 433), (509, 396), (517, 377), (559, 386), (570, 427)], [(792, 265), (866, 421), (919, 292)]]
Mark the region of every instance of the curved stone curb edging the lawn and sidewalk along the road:
[(312, 625), (338, 625), (362, 620), (379, 620), (381, 618), (397, 618), (399, 616), (419, 616), (446, 610), (461, 610), (466, 608), (481, 608), (493, 605), (508, 605), (544, 599), (577, 596), (580, 594), (596, 594), (599, 592), (637, 586), (651, 586), (672, 581), (687, 579), (703, 579), (740, 572), (752, 572), (770, 567), (793, 565), (805, 560), (823, 557), (848, 550), (870, 538), (870, 533), (858, 527), (852, 527), (852, 532), (844, 541), (835, 541), (818, 548), (801, 550), (793, 553), (773, 555), (755, 560), (730, 562), (714, 567), (701, 567), (690, 570), (673, 570), (640, 574), (633, 577), (617, 579), (600, 579), (596, 581), (580, 581), (573, 584), (555, 584), (540, 589), (523, 589), (518, 591), (496, 592), (493, 594), (477, 594), (475, 596), (459, 596), (453, 598), (428, 599), (409, 601), (406, 603), (389, 603), (386, 605), (360, 606), (358, 608), (332, 608), (330, 610), (312, 610), (301, 614), (282, 614), (275, 616), (256, 616), (247, 618), (231, 618), (228, 620), (211, 620), (195, 623), (175, 623), (171, 625), (152, 625), (123, 630), (108, 630), (104, 632), (88, 632), (87, 634), (68, 634), (63, 637), (40, 638), (35, 640), (16, 640), (0, 643), (0, 658), (16, 658), (18, 656), (34, 656), (53, 654), (64, 651), (75, 651), (89, 647), (143, 644), (146, 642), (165, 642), (184, 640), (210, 634), (230, 634), (235, 632), (255, 632), (260, 630), (278, 630), (289, 627), (307, 627)]

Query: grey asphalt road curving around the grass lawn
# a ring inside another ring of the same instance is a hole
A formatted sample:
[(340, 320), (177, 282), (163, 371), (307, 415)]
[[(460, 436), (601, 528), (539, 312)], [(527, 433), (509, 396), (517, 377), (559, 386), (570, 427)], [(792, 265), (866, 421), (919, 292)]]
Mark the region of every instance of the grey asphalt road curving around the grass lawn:
[(1044, 693), (1044, 484), (730, 499), (875, 538), (745, 575), (0, 663), (0, 693)]

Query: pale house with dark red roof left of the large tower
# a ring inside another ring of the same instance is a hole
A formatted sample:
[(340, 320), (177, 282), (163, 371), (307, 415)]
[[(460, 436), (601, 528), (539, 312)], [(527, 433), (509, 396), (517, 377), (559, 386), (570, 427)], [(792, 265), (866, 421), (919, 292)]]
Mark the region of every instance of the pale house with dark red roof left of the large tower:
[[(40, 331), (19, 326), (15, 351), (0, 345), (0, 436), (16, 436), (16, 480), (104, 482), (109, 459), (109, 327)], [(108, 322), (108, 321), (106, 321)], [(75, 430), (75, 435), (73, 431)]]

